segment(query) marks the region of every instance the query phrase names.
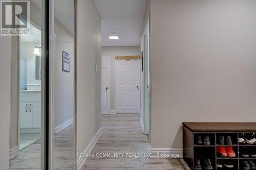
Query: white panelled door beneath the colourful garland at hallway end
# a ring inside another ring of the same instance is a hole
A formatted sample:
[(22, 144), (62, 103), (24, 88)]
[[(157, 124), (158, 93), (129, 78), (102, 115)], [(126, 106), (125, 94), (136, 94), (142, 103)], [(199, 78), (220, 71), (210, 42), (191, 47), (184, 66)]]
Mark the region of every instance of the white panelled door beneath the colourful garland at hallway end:
[(140, 113), (140, 60), (116, 60), (116, 113)]

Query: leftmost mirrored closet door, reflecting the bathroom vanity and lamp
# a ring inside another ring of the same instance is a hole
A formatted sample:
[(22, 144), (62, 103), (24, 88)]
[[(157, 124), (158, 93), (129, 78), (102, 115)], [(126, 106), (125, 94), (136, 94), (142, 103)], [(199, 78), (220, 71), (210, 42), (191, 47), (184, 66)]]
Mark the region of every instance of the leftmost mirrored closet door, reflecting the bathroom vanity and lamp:
[[(9, 169), (45, 167), (45, 28), (41, 0), (10, 1), (6, 10), (16, 15), (15, 28), (27, 30), (11, 36), (11, 112)], [(1, 4), (3, 5), (3, 4)], [(21, 12), (22, 11), (22, 12)], [(7, 12), (7, 13), (9, 13)], [(44, 11), (45, 12), (45, 11)], [(12, 18), (7, 18), (11, 22)], [(14, 24), (14, 22), (12, 23)], [(13, 25), (12, 25), (13, 26)], [(25, 26), (25, 28), (24, 28)]]

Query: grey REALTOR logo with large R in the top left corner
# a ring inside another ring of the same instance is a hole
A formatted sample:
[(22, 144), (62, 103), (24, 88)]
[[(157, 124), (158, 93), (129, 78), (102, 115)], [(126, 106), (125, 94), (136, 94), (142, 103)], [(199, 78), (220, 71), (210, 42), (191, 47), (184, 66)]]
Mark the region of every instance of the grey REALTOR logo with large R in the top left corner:
[(29, 36), (30, 1), (1, 1), (1, 35)]

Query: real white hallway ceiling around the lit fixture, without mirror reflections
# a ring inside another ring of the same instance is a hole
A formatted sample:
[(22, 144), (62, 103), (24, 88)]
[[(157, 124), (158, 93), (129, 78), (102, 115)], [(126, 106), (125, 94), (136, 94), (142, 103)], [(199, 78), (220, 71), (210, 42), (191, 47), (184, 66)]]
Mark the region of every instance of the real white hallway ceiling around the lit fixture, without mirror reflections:
[(99, 14), (119, 34), (119, 40), (110, 40), (114, 32), (101, 21), (102, 46), (139, 46), (147, 0), (93, 0)]

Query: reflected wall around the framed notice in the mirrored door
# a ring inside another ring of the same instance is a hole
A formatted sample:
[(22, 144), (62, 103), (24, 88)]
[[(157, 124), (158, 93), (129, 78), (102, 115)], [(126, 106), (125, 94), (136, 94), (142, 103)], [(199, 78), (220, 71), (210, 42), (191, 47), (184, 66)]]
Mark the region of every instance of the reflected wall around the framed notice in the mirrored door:
[[(55, 128), (74, 118), (74, 36), (54, 20), (55, 39)], [(69, 53), (70, 72), (62, 71), (62, 51)]]

